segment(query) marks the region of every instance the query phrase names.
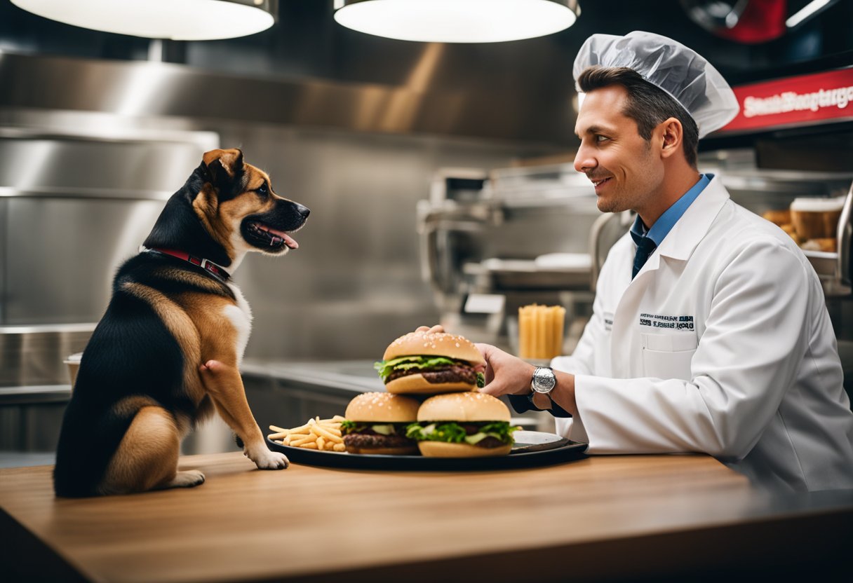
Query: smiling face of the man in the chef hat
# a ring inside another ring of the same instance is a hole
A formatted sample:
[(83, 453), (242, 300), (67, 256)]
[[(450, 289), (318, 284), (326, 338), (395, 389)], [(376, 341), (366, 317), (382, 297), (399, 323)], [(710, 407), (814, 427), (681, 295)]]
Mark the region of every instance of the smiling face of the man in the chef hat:
[(654, 204), (664, 180), (664, 165), (652, 143), (637, 132), (636, 122), (622, 112), (628, 90), (622, 85), (585, 95), (575, 133), (581, 145), (575, 170), (595, 184), (602, 212), (639, 211)]

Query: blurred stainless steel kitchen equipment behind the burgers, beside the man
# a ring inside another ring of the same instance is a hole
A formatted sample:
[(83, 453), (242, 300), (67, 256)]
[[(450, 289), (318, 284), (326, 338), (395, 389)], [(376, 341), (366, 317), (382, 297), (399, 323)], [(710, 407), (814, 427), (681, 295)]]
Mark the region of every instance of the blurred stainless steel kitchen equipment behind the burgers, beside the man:
[(571, 164), (439, 170), (418, 230), (444, 325), (514, 349), (519, 306), (547, 303), (564, 305), (567, 329), (577, 329), (591, 305), (596, 245), (615, 240), (600, 218), (595, 190)]

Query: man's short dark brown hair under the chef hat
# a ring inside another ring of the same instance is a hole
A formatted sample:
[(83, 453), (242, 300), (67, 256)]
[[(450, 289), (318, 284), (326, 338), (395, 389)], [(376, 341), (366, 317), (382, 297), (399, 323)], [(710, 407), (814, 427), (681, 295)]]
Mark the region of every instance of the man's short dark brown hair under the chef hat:
[(628, 89), (628, 105), (622, 112), (637, 124), (640, 136), (650, 141), (652, 131), (665, 119), (676, 118), (682, 123), (684, 158), (696, 167), (699, 149), (699, 127), (690, 114), (663, 89), (659, 89), (627, 66), (588, 66), (577, 78), (583, 93), (611, 85)]

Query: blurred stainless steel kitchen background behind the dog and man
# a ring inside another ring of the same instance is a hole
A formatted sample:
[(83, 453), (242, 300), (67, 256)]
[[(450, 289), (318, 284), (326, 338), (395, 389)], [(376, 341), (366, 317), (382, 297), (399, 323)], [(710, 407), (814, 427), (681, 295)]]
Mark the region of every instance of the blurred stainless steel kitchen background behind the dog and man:
[[(572, 168), (572, 62), (590, 34), (664, 34), (733, 86), (853, 65), (850, 0), (792, 27), (809, 0), (581, 0), (573, 26), (507, 43), (380, 38), (336, 23), (333, 0), (277, 4), (264, 32), (185, 42), (0, 0), (0, 464), (51, 459), (71, 390), (63, 361), (206, 150), (241, 147), (311, 209), (298, 251), (252, 255), (235, 274), (254, 314), (243, 372), (265, 430), (381, 389), (371, 362), (415, 326), (514, 350), (519, 305), (559, 303), (571, 351), (630, 220), (602, 217)], [(835, 251), (812, 259), (848, 370), (851, 119), (700, 144), (700, 170), (759, 214), (846, 197)], [(185, 451), (231, 447), (227, 433), (214, 424)]]

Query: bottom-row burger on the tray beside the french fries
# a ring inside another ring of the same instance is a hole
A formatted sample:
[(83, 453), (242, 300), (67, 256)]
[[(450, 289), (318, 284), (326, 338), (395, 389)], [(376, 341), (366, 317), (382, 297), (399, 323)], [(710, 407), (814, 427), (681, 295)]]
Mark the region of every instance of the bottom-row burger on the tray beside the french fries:
[(418, 444), (406, 436), (420, 403), (390, 393), (363, 393), (350, 401), (340, 430), (349, 453), (416, 455)]

